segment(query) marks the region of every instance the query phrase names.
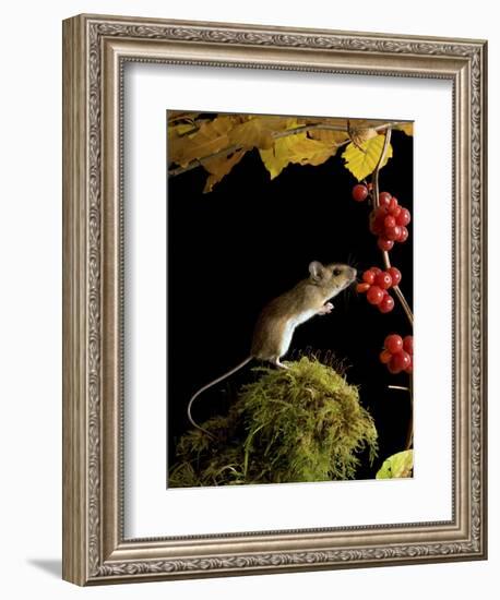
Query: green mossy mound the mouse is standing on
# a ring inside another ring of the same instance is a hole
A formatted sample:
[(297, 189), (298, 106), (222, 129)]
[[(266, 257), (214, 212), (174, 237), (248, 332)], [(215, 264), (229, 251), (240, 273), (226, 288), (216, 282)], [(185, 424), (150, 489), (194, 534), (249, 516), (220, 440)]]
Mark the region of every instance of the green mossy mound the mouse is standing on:
[(259, 368), (227, 417), (179, 441), (169, 487), (354, 479), (359, 454), (377, 455), (377, 430), (357, 387), (302, 357), (287, 370)]

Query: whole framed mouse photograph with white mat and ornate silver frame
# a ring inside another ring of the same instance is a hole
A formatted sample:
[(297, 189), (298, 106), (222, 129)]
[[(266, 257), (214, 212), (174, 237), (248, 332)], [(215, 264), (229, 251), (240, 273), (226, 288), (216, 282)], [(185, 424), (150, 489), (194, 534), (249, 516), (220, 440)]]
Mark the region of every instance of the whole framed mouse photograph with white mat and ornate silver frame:
[(486, 41), (63, 22), (63, 578), (486, 557)]

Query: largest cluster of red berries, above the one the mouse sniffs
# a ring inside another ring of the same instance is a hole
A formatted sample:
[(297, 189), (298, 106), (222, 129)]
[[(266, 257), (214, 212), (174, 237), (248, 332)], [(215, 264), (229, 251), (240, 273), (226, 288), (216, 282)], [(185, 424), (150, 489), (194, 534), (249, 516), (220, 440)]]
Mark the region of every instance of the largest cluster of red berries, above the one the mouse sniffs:
[(400, 206), (396, 197), (389, 192), (381, 192), (379, 206), (370, 214), (370, 231), (378, 236), (380, 250), (389, 252), (394, 242), (405, 242), (408, 239), (406, 226), (410, 220), (409, 211)]

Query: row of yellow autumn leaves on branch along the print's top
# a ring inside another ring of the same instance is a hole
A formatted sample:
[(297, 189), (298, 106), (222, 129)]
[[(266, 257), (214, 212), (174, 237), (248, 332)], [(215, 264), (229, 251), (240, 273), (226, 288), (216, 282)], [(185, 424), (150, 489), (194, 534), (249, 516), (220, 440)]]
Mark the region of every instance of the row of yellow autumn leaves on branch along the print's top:
[(210, 192), (253, 148), (274, 179), (289, 164), (321, 165), (345, 146), (345, 166), (360, 181), (392, 156), (389, 146), (378, 165), (385, 140), (379, 133), (391, 128), (413, 134), (406, 122), (174, 111), (168, 119), (168, 172), (174, 177), (203, 167), (209, 173), (204, 192)]

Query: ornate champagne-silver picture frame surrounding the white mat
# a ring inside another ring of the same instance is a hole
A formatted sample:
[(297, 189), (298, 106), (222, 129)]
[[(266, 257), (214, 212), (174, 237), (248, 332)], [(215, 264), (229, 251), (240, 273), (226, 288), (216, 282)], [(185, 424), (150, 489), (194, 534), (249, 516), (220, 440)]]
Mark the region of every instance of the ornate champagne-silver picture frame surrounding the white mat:
[[(486, 41), (80, 15), (63, 23), (63, 578), (78, 585), (486, 557)], [(123, 539), (126, 61), (443, 77), (454, 88), (451, 521)]]

